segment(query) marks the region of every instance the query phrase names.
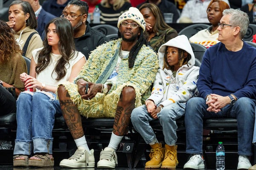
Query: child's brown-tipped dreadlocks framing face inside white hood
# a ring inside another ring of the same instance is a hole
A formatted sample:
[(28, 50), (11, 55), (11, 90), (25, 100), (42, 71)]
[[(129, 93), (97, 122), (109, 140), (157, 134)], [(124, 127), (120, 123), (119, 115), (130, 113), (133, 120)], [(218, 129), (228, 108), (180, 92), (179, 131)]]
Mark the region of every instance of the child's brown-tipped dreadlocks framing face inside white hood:
[[(167, 62), (167, 48), (168, 46), (166, 46), (165, 49), (165, 53), (164, 53), (164, 63), (163, 63), (163, 69), (169, 69), (174, 71), (174, 66), (173, 65), (169, 65), (169, 63)], [(185, 53), (188, 54), (188, 56), (185, 58)], [(178, 48), (178, 65), (181, 67), (182, 65), (186, 65), (189, 61), (189, 59), (191, 59), (191, 55), (186, 52), (183, 49)]]

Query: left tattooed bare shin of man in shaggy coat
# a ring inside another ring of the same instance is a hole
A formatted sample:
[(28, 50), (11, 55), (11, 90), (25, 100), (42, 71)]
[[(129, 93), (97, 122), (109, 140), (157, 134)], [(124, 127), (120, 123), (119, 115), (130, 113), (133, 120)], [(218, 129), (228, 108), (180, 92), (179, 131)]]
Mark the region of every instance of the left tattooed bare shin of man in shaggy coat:
[(70, 99), (70, 95), (65, 90), (63, 85), (58, 88), (58, 97), (60, 100), (62, 115), (66, 121), (67, 127), (70, 130), (73, 139), (78, 139), (84, 136), (84, 130), (81, 122), (81, 115), (76, 105)]

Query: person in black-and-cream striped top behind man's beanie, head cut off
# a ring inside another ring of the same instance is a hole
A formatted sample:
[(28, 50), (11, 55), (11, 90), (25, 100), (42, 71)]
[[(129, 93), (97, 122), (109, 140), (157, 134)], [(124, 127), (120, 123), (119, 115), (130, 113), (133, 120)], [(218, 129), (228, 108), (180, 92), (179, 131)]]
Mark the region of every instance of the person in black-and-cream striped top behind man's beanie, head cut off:
[(129, 0), (102, 0), (99, 4), (100, 23), (116, 25), (118, 17), (130, 7)]

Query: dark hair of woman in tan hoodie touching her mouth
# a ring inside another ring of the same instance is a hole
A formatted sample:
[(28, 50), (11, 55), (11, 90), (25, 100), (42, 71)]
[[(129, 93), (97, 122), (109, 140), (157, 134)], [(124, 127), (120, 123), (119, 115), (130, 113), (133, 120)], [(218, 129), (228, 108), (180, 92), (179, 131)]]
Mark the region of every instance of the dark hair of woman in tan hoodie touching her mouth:
[(13, 1), (10, 4), (9, 8), (13, 5), (20, 5), (22, 7), (22, 11), (24, 12), (24, 14), (29, 13), (29, 19), (26, 20), (26, 26), (30, 26), (30, 27), (36, 29), (37, 20), (36, 20), (35, 12), (33, 11), (32, 6), (28, 2), (22, 1), (22, 0)]

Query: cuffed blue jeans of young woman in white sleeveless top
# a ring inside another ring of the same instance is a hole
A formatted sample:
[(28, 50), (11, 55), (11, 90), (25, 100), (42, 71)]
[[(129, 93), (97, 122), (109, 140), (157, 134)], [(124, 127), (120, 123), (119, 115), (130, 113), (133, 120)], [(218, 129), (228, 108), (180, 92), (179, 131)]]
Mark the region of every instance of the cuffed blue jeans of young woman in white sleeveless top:
[(17, 99), (17, 134), (14, 155), (52, 154), (55, 113), (61, 113), (56, 95), (22, 92)]

